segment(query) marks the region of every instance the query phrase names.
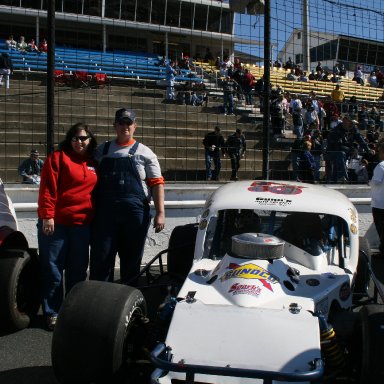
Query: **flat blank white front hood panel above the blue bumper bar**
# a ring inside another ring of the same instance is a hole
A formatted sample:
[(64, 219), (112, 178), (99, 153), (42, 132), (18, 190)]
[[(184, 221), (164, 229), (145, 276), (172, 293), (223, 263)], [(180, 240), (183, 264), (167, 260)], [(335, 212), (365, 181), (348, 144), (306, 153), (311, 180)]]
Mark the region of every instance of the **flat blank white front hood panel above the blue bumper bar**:
[[(166, 345), (174, 363), (280, 373), (308, 371), (320, 358), (318, 319), (307, 311), (240, 309), (198, 300), (176, 305)], [(172, 377), (180, 375), (170, 372)]]

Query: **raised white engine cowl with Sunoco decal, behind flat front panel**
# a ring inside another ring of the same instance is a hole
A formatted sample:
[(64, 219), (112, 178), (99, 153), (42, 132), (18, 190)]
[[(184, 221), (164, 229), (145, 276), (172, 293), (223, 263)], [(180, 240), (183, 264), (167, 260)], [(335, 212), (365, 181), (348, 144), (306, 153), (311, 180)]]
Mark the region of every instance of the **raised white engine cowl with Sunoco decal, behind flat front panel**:
[(270, 262), (225, 255), (220, 261), (195, 262), (178, 296), (193, 294), (209, 305), (277, 310), (298, 304), (305, 310), (321, 309), (326, 314), (331, 297), (343, 297), (342, 303), (350, 305), (351, 278), (336, 266), (328, 266), (324, 273), (314, 273), (285, 257)]

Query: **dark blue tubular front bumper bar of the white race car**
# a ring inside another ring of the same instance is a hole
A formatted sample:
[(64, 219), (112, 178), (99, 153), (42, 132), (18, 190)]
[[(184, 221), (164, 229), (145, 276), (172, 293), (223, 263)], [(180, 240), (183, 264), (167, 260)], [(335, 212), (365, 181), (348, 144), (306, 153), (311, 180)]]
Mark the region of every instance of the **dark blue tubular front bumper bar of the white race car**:
[[(272, 384), (272, 381), (314, 381), (320, 379), (324, 374), (324, 364), (321, 359), (314, 359), (309, 363), (312, 367), (309, 371), (302, 372), (271, 372), (258, 369), (244, 369), (226, 367), (214, 367), (208, 365), (185, 364), (183, 361), (172, 363), (171, 348), (164, 343), (159, 343), (151, 352), (151, 361), (157, 369), (151, 375), (151, 383), (158, 383), (159, 379), (167, 372), (184, 372), (186, 383), (194, 383), (195, 374), (245, 377), (251, 379), (263, 379), (264, 384)], [(160, 357), (161, 356), (161, 357)]]

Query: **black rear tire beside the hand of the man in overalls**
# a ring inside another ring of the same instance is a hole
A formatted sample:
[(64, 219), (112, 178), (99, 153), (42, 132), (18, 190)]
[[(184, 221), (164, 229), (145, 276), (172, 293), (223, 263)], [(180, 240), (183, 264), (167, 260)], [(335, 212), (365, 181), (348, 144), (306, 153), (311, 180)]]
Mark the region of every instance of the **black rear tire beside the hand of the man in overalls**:
[(168, 243), (167, 271), (184, 281), (193, 263), (198, 224), (180, 225), (173, 229)]

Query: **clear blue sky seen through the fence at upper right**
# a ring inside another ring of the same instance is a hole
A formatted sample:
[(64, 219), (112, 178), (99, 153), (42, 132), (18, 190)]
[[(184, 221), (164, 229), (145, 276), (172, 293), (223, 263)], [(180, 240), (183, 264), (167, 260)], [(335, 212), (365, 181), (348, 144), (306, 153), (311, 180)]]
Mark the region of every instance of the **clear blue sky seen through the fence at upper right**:
[[(271, 36), (277, 45), (274, 59), (293, 29), (302, 27), (301, 12), (301, 0), (271, 0)], [(384, 0), (309, 0), (309, 13), (311, 31), (384, 41)], [(264, 16), (236, 14), (235, 33), (263, 41)], [(237, 49), (263, 56), (263, 46)]]

